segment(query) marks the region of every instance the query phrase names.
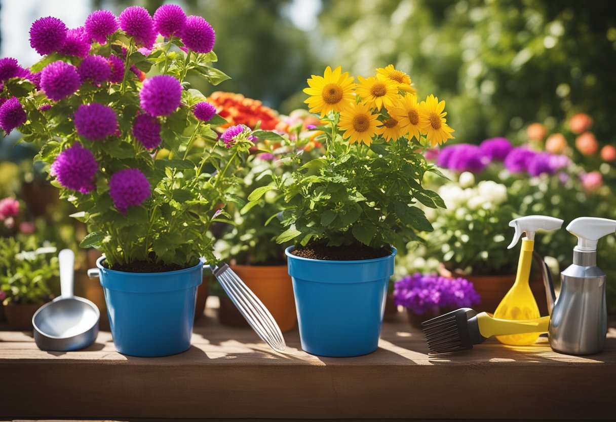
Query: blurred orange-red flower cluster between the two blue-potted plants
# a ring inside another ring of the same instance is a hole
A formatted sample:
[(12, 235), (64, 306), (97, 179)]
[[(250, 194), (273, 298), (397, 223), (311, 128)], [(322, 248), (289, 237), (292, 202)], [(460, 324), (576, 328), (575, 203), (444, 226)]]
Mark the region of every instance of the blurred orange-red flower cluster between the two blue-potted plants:
[(246, 98), (242, 94), (216, 91), (208, 97), (208, 102), (216, 106), (218, 114), (227, 120), (221, 128), (246, 125), (254, 129), (260, 120), (261, 129), (274, 130), (280, 122), (274, 110), (265, 107), (261, 101)]

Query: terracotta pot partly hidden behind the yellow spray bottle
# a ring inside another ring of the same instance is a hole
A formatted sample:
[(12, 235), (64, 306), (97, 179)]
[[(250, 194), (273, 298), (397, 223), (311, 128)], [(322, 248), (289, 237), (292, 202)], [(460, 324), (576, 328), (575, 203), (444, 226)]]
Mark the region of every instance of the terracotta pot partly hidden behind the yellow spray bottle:
[[(500, 304), (505, 294), (511, 289), (514, 281), (516, 281), (516, 275), (464, 275), (457, 271), (439, 270), (442, 275), (462, 277), (470, 281), (477, 294), (481, 297), (479, 305), (473, 305), (472, 308), (477, 312), (490, 312), (493, 313), (496, 310), (498, 304)], [(541, 315), (548, 315), (548, 301), (545, 296), (545, 287), (543, 286), (543, 279), (541, 275), (535, 272), (530, 273), (530, 290), (535, 296), (535, 301), (539, 307)]]

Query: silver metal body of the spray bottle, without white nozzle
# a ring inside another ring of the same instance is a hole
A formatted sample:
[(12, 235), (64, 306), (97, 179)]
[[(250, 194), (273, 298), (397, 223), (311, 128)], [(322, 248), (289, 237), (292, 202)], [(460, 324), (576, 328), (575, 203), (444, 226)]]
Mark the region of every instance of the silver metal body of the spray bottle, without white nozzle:
[(558, 352), (590, 355), (606, 342), (606, 273), (596, 267), (596, 251), (573, 252), (561, 273), (561, 294), (549, 325), (549, 345)]

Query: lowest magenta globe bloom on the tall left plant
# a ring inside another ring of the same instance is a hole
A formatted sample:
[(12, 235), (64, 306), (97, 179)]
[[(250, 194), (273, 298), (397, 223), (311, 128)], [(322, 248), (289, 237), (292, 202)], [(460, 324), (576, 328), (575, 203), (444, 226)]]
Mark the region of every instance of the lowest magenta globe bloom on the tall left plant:
[(109, 195), (113, 205), (124, 214), (128, 207), (141, 205), (150, 197), (150, 183), (137, 168), (120, 170), (109, 180)]

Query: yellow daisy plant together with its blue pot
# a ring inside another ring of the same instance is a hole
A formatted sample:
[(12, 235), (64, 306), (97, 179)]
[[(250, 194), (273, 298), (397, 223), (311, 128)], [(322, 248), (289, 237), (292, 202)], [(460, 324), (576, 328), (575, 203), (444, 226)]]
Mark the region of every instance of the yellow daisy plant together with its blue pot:
[(419, 102), (408, 75), (388, 66), (355, 85), (327, 67), (308, 80), (306, 102), (317, 112), (325, 153), (290, 175), (272, 175), (257, 200), (277, 189), (298, 310), (302, 349), (315, 355), (363, 355), (378, 347), (395, 245), (432, 226), (417, 204), (443, 207), (422, 186), (426, 144), (452, 138), (444, 101)]

